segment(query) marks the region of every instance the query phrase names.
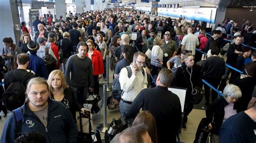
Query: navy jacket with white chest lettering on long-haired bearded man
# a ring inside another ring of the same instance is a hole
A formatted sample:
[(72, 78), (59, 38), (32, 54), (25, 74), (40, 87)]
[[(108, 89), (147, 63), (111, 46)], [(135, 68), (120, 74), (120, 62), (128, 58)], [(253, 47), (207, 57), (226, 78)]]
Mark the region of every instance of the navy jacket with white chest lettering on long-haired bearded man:
[[(47, 142), (77, 142), (77, 125), (66, 107), (56, 101), (48, 99), (48, 125), (45, 127), (40, 119), (25, 103), (23, 110), (24, 121), (21, 133), (36, 131), (42, 133)], [(1, 142), (14, 142), (17, 138), (17, 122), (12, 113), (5, 121)]]

